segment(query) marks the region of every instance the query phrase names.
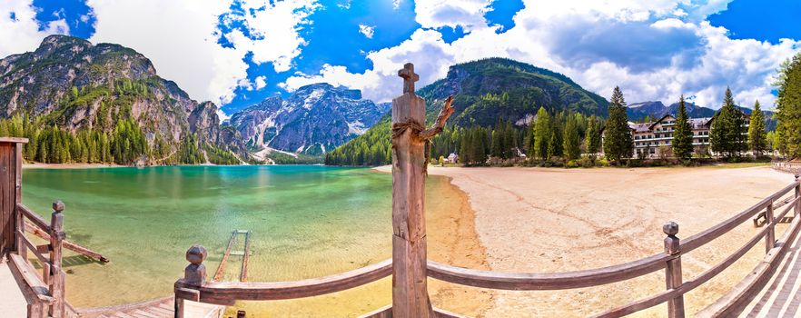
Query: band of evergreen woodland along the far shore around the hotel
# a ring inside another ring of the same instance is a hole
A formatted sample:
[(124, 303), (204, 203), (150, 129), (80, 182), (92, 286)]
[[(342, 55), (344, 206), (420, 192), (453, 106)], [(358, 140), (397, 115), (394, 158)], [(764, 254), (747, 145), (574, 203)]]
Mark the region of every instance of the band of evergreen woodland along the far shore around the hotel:
[[(723, 94), (724, 102), (712, 120), (711, 150), (724, 160), (739, 160), (746, 154), (756, 157), (776, 151), (790, 158), (801, 156), (801, 55), (782, 65), (777, 76), (776, 132), (766, 131), (766, 118), (761, 105), (755, 101), (750, 117), (734, 102), (730, 89)], [(497, 96), (486, 95), (486, 100)], [(696, 154), (693, 133), (682, 96), (677, 107), (674, 131), (675, 159), (690, 163)], [(746, 125), (746, 120), (748, 123)], [(389, 121), (385, 118), (384, 121)], [(389, 125), (376, 127), (388, 130)], [(326, 156), (326, 164), (379, 165), (391, 162), (391, 141), (382, 138), (389, 132), (373, 129), (364, 138), (351, 141)], [(598, 158), (601, 132), (606, 137), (604, 158)], [(499, 121), (493, 126), (449, 125), (431, 140), (430, 158), (440, 162), (449, 154), (458, 154), (460, 164), (539, 164), (595, 165), (622, 163), (633, 155), (628, 115), (623, 92), (616, 87), (609, 104), (608, 118), (569, 111), (549, 111), (539, 107), (528, 124)], [(526, 154), (525, 157), (522, 154)], [(582, 155), (584, 154), (584, 155)], [(596, 161), (598, 160), (598, 161)], [(591, 161), (591, 162), (590, 162)]]

